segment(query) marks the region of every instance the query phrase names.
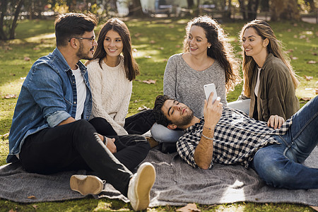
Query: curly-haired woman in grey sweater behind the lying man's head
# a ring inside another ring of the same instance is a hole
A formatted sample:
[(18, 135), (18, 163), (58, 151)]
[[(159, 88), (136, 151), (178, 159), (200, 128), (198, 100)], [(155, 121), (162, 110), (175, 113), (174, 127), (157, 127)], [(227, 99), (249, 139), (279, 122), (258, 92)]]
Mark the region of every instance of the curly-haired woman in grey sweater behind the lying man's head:
[[(214, 83), (223, 105), (226, 91), (235, 86), (238, 62), (220, 25), (209, 16), (187, 23), (184, 52), (170, 57), (165, 67), (163, 93), (188, 105), (196, 117), (203, 117), (204, 85)], [(174, 143), (182, 131), (170, 131), (155, 124), (151, 129), (156, 141)]]

